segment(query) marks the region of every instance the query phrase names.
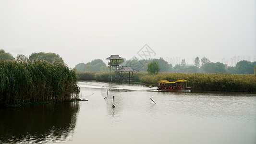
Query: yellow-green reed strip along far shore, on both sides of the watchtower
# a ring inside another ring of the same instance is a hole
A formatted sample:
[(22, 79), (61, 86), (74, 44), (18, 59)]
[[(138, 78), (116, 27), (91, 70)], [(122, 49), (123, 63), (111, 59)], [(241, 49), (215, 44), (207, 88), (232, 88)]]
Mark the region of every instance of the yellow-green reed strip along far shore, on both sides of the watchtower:
[[(108, 82), (108, 72), (77, 72), (78, 80), (96, 80)], [(160, 80), (187, 80), (187, 85), (196, 90), (256, 92), (256, 76), (253, 74), (230, 73), (169, 73), (149, 75), (147, 72), (134, 74), (138, 79), (134, 82), (157, 84)]]

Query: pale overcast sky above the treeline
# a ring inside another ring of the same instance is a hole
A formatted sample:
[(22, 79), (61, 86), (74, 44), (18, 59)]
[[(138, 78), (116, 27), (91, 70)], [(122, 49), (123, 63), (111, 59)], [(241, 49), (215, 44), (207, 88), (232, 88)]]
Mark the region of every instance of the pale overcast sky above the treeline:
[(256, 61), (256, 0), (0, 0), (0, 49), (70, 68), (110, 55), (234, 66)]

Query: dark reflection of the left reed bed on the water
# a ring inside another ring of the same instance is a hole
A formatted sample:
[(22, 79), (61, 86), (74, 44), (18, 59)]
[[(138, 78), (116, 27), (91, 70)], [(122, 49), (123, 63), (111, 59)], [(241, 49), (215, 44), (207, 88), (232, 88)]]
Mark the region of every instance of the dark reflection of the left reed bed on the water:
[(0, 143), (59, 143), (74, 132), (78, 102), (0, 108)]

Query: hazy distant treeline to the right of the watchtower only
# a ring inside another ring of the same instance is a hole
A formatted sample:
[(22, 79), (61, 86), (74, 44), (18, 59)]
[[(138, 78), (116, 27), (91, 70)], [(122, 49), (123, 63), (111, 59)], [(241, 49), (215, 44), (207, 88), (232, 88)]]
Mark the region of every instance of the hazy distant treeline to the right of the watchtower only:
[(159, 64), (160, 72), (184, 72), (184, 73), (238, 73), (238, 74), (254, 74), (254, 69), (256, 67), (256, 61), (250, 62), (247, 60), (241, 60), (236, 63), (235, 67), (228, 67), (221, 62), (210, 62), (209, 59), (203, 57), (201, 60), (196, 57), (194, 60), (194, 65), (188, 65), (185, 59), (181, 61), (180, 64), (176, 64), (174, 67), (168, 64), (163, 58), (159, 59), (148, 59), (148, 60), (138, 60), (133, 58), (131, 60), (124, 60), (123, 65), (132, 66), (135, 70), (140, 72), (146, 72), (148, 63), (156, 61)]

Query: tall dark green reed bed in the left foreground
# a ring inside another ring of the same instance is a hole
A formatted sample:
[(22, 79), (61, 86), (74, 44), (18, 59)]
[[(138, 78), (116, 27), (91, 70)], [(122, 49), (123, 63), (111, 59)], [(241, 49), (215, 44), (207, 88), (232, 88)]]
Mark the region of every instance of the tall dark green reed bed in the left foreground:
[(0, 104), (65, 101), (78, 98), (75, 72), (45, 60), (0, 60)]

